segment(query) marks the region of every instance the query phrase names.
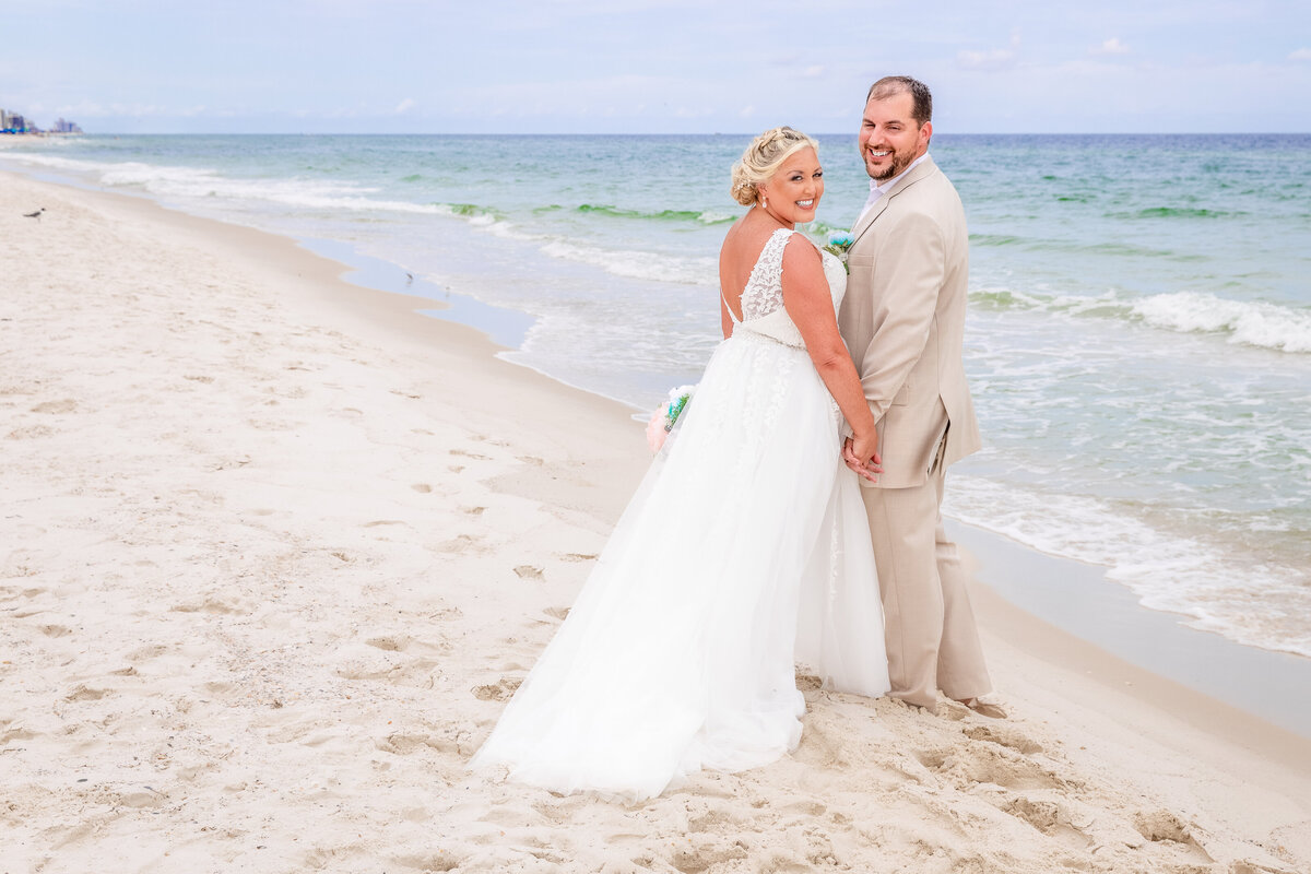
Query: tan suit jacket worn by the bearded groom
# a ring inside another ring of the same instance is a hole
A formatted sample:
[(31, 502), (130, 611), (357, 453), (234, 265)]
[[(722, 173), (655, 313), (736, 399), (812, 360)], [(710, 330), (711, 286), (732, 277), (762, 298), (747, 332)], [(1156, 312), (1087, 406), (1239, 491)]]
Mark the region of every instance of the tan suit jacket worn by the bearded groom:
[(878, 423), (884, 466), (877, 484), (860, 485), (923, 485), (944, 434), (943, 466), (979, 448), (962, 360), (965, 208), (928, 157), (874, 203), (852, 236), (838, 329)]

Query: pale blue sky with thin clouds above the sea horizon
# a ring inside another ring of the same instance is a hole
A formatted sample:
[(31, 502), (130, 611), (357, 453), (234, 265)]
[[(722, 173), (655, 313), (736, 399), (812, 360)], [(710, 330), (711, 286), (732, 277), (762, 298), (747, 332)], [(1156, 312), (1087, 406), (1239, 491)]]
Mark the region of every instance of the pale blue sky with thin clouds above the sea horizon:
[(0, 107), (88, 132), (1311, 132), (1311, 0), (0, 0)]

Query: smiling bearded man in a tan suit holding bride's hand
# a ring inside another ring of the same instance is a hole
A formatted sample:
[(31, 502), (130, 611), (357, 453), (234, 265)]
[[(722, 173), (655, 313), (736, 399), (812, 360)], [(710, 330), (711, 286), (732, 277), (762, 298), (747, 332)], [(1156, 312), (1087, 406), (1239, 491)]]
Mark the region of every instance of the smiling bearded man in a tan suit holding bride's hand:
[[(884, 472), (861, 480), (878, 566), (893, 697), (935, 712), (937, 691), (978, 713), (992, 688), (956, 544), (943, 531), (947, 466), (979, 448), (962, 343), (969, 241), (956, 189), (928, 155), (933, 98), (909, 76), (869, 89), (860, 155), (869, 200), (847, 254), (838, 328), (878, 422)], [(844, 449), (856, 468), (867, 459)]]

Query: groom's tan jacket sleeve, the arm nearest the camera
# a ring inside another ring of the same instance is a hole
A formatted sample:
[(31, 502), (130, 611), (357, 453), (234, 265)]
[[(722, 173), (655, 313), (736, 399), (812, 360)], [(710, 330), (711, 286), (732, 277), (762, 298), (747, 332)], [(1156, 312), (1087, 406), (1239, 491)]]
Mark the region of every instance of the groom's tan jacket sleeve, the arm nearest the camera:
[(898, 216), (874, 256), (873, 337), (860, 360), (861, 387), (882, 419), (928, 342), (947, 274), (943, 229), (923, 212)]

